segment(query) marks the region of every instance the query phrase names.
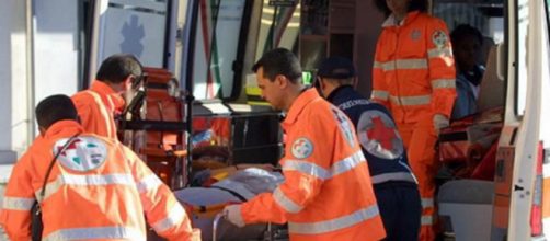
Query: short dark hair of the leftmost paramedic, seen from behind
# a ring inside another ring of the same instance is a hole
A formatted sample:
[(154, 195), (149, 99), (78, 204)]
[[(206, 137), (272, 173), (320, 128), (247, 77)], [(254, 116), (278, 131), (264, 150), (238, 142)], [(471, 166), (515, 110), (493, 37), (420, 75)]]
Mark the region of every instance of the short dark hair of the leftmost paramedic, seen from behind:
[(78, 112), (69, 96), (57, 94), (42, 100), (35, 108), (38, 126), (47, 129), (64, 119), (78, 119)]

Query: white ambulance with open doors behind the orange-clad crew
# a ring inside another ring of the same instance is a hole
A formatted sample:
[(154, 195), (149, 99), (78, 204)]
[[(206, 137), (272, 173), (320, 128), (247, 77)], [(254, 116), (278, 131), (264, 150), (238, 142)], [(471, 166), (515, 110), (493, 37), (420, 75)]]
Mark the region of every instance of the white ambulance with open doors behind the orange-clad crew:
[[(451, 176), (439, 186), (440, 237), (546, 240), (550, 1), (431, 0), (429, 5), (449, 31), (470, 24), (485, 37), (478, 104), (500, 107), (502, 124), (492, 179)], [(369, 96), (383, 19), (368, 0), (5, 0), (0, 80), (7, 88), (0, 89), (0, 110), (10, 117), (0, 119), (5, 131), (0, 163), (9, 167), (34, 139), (37, 102), (85, 89), (101, 61), (121, 51), (172, 73), (176, 92), (195, 106), (184, 112), (190, 119), (229, 118), (226, 144), (234, 161), (276, 163), (283, 148), (279, 115), (260, 97), (252, 65), (266, 50), (288, 48), (299, 56), (310, 84), (324, 57), (344, 56), (356, 66), (357, 90)], [(9, 175), (5, 169), (2, 177)]]

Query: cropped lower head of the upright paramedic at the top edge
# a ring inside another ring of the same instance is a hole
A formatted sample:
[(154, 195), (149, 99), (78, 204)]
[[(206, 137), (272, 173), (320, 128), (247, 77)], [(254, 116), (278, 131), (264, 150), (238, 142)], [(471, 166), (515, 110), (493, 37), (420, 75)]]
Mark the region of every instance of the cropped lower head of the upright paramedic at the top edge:
[[(374, 0), (376, 8), (383, 12), (386, 18), (391, 14), (403, 15), (412, 11), (427, 12), (427, 0)], [(399, 18), (400, 19), (400, 18)]]

